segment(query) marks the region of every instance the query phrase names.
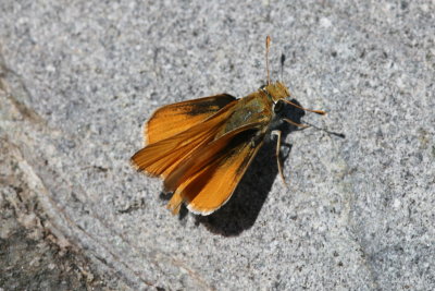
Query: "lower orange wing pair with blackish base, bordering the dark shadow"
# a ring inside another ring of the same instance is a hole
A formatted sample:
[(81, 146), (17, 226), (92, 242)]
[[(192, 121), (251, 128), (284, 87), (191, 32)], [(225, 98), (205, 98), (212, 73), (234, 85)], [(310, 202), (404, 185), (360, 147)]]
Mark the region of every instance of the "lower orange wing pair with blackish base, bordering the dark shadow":
[(167, 208), (176, 214), (184, 201), (190, 211), (209, 215), (224, 205), (263, 142), (262, 125), (241, 126), (196, 150), (164, 181), (175, 191)]

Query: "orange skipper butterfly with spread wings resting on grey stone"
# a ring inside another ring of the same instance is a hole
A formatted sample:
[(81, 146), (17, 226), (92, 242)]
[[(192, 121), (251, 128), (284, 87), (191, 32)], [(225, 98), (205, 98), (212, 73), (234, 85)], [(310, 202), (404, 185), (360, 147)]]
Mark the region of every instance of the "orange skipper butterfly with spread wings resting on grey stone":
[(163, 179), (165, 192), (172, 192), (167, 208), (177, 214), (183, 203), (198, 215), (210, 215), (223, 206), (263, 144), (268, 134), (277, 136), (276, 159), (279, 161), (281, 131), (273, 130), (284, 104), (310, 110), (288, 100), (290, 93), (281, 82), (268, 83), (243, 98), (228, 94), (166, 105), (157, 109), (145, 124), (146, 146), (130, 159), (133, 166), (150, 177)]

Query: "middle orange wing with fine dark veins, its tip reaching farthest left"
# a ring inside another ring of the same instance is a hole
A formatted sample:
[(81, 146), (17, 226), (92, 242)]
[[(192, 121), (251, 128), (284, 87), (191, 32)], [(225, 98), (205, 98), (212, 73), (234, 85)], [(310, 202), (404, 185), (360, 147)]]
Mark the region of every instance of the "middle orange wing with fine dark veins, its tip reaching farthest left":
[[(184, 131), (179, 130), (178, 124), (172, 124), (172, 128), (179, 132), (137, 151), (132, 157), (133, 165), (138, 171), (145, 171), (150, 175), (166, 177), (192, 151), (214, 140), (222, 124), (233, 113), (236, 104), (236, 101), (229, 104), (208, 120)], [(170, 128), (166, 124), (166, 130)]]

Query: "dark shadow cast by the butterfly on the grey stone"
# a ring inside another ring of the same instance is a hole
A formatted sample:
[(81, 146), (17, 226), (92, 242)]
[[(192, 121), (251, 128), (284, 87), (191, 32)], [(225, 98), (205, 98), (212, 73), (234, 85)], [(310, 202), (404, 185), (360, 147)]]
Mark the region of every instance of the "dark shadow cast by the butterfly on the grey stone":
[[(293, 99), (291, 101), (300, 106), (297, 100)], [(282, 116), (289, 118), (296, 123), (300, 123), (304, 111), (285, 105)], [(285, 122), (275, 129), (282, 131), (283, 141), (285, 141), (285, 137), (289, 133), (298, 130), (295, 125)], [(196, 223), (201, 223), (212, 233), (224, 237), (235, 237), (251, 228), (278, 173), (275, 149), (276, 138), (268, 137), (244, 174), (231, 199), (222, 208), (209, 216), (196, 215)], [(291, 151), (291, 145), (283, 143), (281, 149), (281, 158), (282, 162), (284, 162)], [(164, 195), (163, 193), (160, 195), (162, 199), (169, 199), (169, 195)], [(179, 219), (184, 220), (187, 214), (187, 208), (183, 206), (179, 211)]]

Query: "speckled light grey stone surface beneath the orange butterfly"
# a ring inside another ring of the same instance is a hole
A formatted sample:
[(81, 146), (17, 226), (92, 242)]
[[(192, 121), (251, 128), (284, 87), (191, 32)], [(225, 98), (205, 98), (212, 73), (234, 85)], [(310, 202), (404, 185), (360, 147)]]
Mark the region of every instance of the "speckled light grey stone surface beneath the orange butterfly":
[[(1, 153), (15, 165), (1, 166), (1, 205), (76, 250), (96, 288), (435, 289), (433, 1), (5, 0), (0, 11)], [(284, 54), (294, 98), (328, 111), (302, 120), (346, 138), (289, 131), (287, 187), (270, 144), (215, 215), (171, 216), (161, 182), (128, 162), (142, 122), (164, 104), (256, 90), (266, 35), (272, 77)], [(1, 239), (15, 240), (8, 226)], [(2, 265), (20, 253), (1, 250)]]

